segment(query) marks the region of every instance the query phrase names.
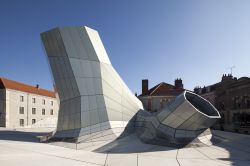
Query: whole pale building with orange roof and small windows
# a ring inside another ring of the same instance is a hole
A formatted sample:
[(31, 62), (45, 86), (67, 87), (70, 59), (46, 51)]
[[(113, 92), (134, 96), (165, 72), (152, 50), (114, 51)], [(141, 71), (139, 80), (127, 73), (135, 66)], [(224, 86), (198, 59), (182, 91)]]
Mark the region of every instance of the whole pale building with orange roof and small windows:
[(53, 91), (0, 78), (0, 127), (22, 128), (41, 121), (47, 123), (43, 127), (55, 127), (57, 116)]

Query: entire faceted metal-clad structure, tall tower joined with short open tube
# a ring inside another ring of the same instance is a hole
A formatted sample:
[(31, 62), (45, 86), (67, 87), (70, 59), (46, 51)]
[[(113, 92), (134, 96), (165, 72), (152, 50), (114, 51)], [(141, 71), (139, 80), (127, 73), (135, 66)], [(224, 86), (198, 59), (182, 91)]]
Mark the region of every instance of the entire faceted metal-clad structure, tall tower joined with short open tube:
[(183, 146), (210, 134), (206, 129), (220, 117), (208, 101), (187, 91), (160, 112), (143, 110), (93, 29), (55, 28), (41, 38), (60, 100), (53, 140), (94, 145), (136, 129), (144, 142)]

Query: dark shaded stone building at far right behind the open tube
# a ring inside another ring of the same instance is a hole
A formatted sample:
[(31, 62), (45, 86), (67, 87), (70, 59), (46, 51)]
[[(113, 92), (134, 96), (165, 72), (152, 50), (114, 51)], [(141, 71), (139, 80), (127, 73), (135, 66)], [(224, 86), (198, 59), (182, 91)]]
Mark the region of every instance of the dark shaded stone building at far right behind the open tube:
[(250, 133), (250, 78), (237, 79), (223, 75), (220, 82), (194, 92), (209, 100), (219, 110), (221, 120), (217, 128)]

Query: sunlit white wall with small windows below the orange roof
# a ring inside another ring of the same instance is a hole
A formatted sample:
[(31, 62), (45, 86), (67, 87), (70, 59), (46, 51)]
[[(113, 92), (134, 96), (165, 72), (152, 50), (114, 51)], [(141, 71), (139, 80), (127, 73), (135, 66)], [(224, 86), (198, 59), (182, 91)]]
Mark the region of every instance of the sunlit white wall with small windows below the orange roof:
[[(20, 101), (20, 96), (24, 96), (24, 101)], [(32, 98), (36, 102), (32, 102)], [(42, 100), (45, 99), (45, 105)], [(53, 101), (53, 106), (51, 105)], [(24, 107), (24, 114), (19, 113), (19, 107)], [(36, 108), (36, 114), (32, 114), (32, 108)], [(45, 115), (42, 115), (42, 109), (45, 109)], [(50, 115), (50, 110), (53, 109), (53, 115)], [(32, 125), (32, 119), (36, 122), (50, 117), (58, 116), (58, 103), (56, 98), (40, 96), (26, 92), (20, 92), (12, 89), (6, 90), (6, 127), (19, 128), (20, 119), (24, 119), (24, 126)]]

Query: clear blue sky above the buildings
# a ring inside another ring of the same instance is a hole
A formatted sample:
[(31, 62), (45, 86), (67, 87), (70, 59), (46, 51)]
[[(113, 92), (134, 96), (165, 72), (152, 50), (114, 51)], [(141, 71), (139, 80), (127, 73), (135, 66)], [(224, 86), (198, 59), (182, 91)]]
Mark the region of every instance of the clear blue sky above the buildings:
[(249, 0), (1, 0), (0, 76), (52, 88), (39, 34), (57, 26), (96, 29), (133, 92), (182, 78), (209, 85), (236, 66), (250, 76)]

